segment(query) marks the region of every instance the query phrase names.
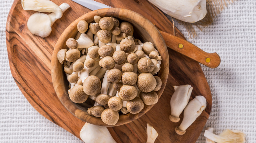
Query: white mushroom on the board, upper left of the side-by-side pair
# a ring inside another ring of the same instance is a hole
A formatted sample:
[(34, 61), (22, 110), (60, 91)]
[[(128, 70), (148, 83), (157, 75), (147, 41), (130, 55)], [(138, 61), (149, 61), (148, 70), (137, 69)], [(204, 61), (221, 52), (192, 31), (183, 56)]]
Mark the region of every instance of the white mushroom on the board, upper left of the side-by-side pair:
[(174, 86), (174, 93), (171, 98), (171, 115), (169, 119), (172, 122), (180, 121), (181, 112), (187, 106), (193, 87), (191, 85)]

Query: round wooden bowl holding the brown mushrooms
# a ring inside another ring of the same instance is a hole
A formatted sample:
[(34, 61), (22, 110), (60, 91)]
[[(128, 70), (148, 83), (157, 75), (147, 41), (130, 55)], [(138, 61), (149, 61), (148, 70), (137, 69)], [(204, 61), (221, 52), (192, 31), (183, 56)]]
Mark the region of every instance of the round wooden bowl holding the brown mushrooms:
[[(93, 117), (88, 115), (87, 109), (88, 106), (85, 103), (78, 104), (73, 103), (68, 95), (68, 81), (66, 74), (63, 70), (63, 65), (58, 61), (56, 55), (60, 49), (67, 48), (66, 40), (69, 38), (75, 38), (77, 34), (77, 23), (80, 20), (85, 20), (89, 23), (94, 21), (94, 16), (98, 15), (100, 17), (108, 17), (113, 16), (118, 18), (121, 21), (127, 21), (133, 24), (134, 26), (134, 37), (142, 40), (142, 42), (149, 41), (154, 44), (156, 49), (159, 51), (160, 56), (162, 57), (161, 69), (158, 73), (158, 76), (162, 80), (162, 87), (159, 91), (157, 91), (158, 98), (160, 98), (163, 90), (165, 88), (167, 77), (169, 73), (169, 56), (166, 44), (158, 31), (158, 29), (152, 24), (148, 19), (143, 17), (142, 15), (122, 8), (104, 8), (98, 9), (95, 11), (91, 11), (86, 13), (85, 15), (76, 19), (72, 24), (70, 24), (65, 31), (61, 34), (60, 38), (58, 39), (56, 46), (53, 51), (52, 57), (52, 80), (53, 80), (53, 87), (54, 90), (61, 101), (61, 103), (73, 114), (75, 117), (91, 123), (95, 125), (101, 126), (110, 126), (105, 124), (101, 118)], [(89, 100), (89, 98), (88, 98)], [(88, 101), (87, 100), (87, 101)], [(91, 99), (90, 99), (91, 100)], [(87, 102), (86, 101), (86, 102)], [(89, 102), (89, 101), (88, 101)], [(93, 106), (93, 105), (92, 105)], [(144, 115), (153, 105), (145, 105), (142, 111), (138, 114), (131, 114), (128, 113), (126, 115), (121, 114), (119, 116), (119, 120), (117, 124), (113, 126), (119, 126), (126, 123), (129, 123), (135, 119), (138, 119), (142, 115)]]

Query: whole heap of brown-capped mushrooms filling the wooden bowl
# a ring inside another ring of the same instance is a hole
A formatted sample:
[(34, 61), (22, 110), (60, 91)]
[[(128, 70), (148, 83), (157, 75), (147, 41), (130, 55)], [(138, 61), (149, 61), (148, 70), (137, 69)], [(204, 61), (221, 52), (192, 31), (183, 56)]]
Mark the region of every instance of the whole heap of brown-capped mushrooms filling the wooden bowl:
[[(95, 23), (77, 24), (78, 33), (69, 38), (57, 58), (69, 81), (69, 97), (74, 103), (95, 101), (89, 115), (115, 125), (119, 113), (139, 113), (144, 104), (158, 102), (155, 91), (161, 79), (161, 56), (151, 42), (133, 37), (133, 26), (117, 18), (95, 16)], [(89, 27), (89, 29), (88, 29)]]

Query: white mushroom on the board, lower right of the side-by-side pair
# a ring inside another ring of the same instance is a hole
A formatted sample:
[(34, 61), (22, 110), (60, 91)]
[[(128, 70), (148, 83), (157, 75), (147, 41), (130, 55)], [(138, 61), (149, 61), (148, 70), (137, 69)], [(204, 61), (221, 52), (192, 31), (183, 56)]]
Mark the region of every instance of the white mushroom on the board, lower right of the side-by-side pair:
[(184, 135), (186, 129), (201, 115), (206, 108), (206, 99), (199, 95), (191, 100), (184, 109), (181, 125), (175, 128), (178, 135)]

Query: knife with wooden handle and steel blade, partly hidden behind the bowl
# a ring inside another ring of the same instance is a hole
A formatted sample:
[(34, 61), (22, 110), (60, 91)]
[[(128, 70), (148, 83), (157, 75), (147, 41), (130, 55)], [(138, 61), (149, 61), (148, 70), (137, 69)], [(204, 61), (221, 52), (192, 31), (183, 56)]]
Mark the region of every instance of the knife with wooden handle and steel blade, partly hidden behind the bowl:
[[(105, 4), (94, 0), (72, 0), (91, 10), (101, 8), (111, 8)], [(217, 53), (207, 53), (192, 43), (183, 40), (177, 36), (159, 30), (168, 48), (181, 53), (209, 68), (217, 68), (220, 65), (221, 58)]]

